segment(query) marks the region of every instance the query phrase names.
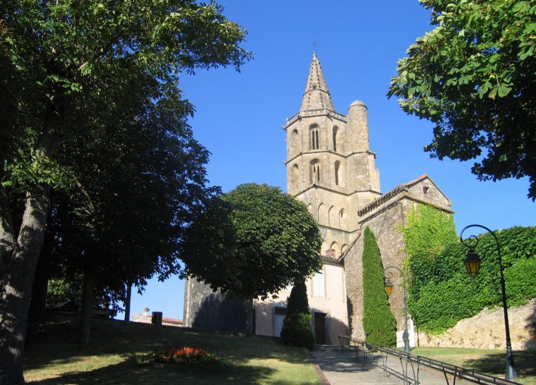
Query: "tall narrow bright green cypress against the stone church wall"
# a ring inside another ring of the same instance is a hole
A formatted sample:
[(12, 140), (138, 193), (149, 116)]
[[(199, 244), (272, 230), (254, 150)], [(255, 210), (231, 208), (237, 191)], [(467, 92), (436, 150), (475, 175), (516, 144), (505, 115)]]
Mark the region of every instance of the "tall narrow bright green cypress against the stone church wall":
[(383, 347), (397, 343), (397, 322), (389, 306), (376, 237), (366, 227), (363, 237), (363, 328), (367, 342)]

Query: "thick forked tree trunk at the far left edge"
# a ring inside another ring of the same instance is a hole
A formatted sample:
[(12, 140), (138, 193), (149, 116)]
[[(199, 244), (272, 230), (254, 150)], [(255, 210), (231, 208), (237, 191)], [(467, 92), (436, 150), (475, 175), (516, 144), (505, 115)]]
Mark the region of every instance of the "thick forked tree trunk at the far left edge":
[[(36, 154), (52, 157), (60, 140), (54, 132), (63, 107), (51, 100), (43, 118)], [(28, 324), (28, 307), (37, 261), (41, 254), (50, 209), (50, 188), (30, 185), (15, 240), (9, 198), (0, 186), (0, 385), (24, 384), (22, 354)]]

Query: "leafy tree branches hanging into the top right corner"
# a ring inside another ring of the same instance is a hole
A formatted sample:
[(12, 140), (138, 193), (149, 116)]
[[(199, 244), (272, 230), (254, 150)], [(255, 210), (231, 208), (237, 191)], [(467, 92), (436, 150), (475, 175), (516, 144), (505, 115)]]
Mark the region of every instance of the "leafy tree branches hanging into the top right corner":
[(480, 180), (528, 176), (536, 199), (536, 4), (419, 1), (434, 29), (399, 61), (388, 96), (434, 123), (432, 157), (478, 159)]

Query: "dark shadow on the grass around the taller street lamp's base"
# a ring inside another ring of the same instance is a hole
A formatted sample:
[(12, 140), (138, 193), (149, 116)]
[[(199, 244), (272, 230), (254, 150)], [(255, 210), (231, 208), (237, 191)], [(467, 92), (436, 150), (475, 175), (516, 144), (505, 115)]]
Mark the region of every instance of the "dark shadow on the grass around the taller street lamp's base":
[[(525, 376), (536, 376), (536, 350), (514, 351), (515, 369), (517, 374)], [(504, 351), (489, 353), (478, 359), (469, 359), (465, 366), (482, 373), (494, 373), (504, 375), (506, 368), (506, 353)]]

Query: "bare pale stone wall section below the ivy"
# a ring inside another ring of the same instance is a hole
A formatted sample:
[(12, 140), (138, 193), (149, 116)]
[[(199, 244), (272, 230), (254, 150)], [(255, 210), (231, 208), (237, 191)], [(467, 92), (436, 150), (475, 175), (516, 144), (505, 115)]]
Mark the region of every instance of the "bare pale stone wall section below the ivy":
[[(511, 307), (508, 317), (512, 349), (536, 349), (536, 299)], [(506, 349), (503, 309), (484, 309), (441, 334), (418, 332), (416, 342), (420, 347)]]

